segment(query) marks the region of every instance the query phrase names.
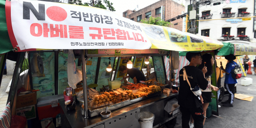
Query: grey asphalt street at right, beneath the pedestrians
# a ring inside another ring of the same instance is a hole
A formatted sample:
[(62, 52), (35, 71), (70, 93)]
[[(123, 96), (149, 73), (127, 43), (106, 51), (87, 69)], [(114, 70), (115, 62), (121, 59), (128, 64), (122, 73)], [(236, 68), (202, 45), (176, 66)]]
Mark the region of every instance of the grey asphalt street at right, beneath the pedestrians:
[[(253, 72), (254, 73), (254, 72)], [(238, 79), (236, 86), (237, 92), (245, 95), (253, 96), (252, 102), (234, 99), (234, 107), (221, 107), (219, 108), (219, 116), (211, 116), (211, 120), (205, 122), (204, 128), (255, 128), (256, 126), (256, 75), (247, 75), (248, 78), (252, 78), (253, 84), (249, 86), (242, 86), (241, 79)], [(224, 81), (224, 80), (222, 80)], [(224, 96), (223, 101), (226, 101), (228, 96)], [(177, 118), (178, 125), (175, 128), (182, 128), (181, 114)]]

